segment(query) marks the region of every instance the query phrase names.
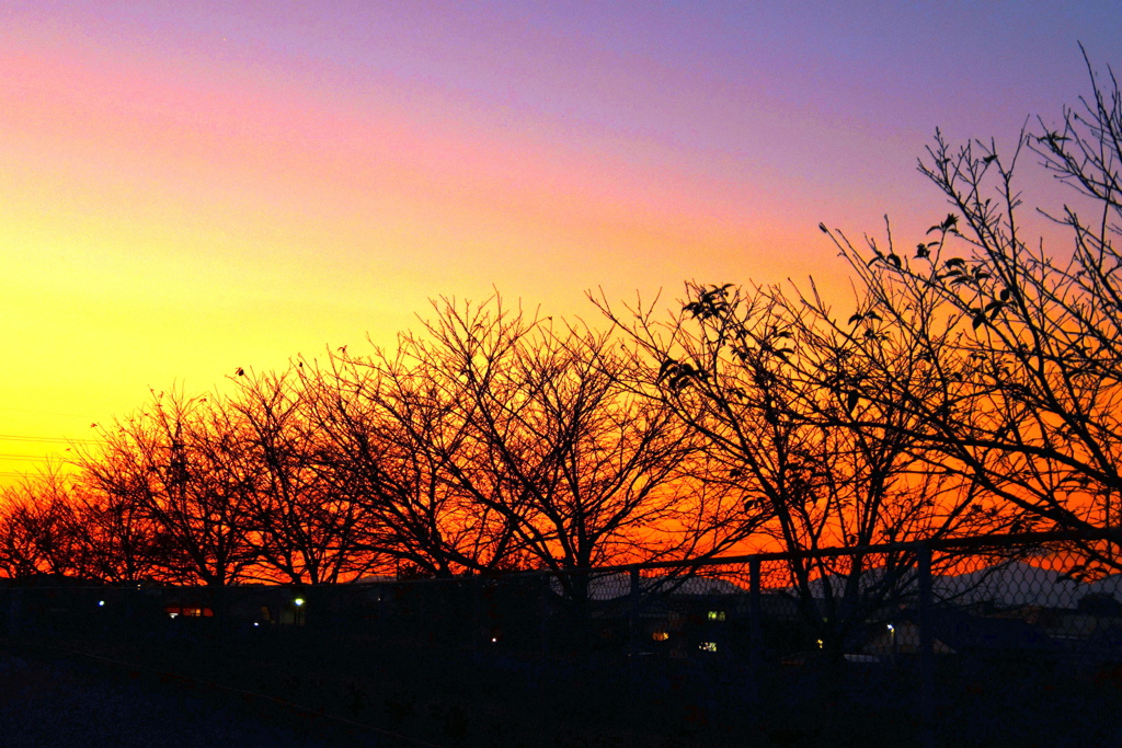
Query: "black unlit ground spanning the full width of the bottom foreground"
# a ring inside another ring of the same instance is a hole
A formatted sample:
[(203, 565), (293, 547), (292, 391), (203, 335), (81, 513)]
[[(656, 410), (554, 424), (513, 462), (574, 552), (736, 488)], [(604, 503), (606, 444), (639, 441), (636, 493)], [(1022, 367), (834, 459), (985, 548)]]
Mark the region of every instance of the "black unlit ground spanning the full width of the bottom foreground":
[(783, 666), (749, 692), (670, 661), (622, 677), (316, 641), (0, 639), (0, 748), (1122, 746), (1122, 666), (944, 663), (925, 731), (907, 668)]

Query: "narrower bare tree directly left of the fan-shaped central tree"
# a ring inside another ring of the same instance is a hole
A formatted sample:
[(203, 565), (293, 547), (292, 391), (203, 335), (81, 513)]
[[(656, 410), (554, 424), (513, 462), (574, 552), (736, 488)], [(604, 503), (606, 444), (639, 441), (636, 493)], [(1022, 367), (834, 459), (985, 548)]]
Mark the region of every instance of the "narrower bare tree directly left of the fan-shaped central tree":
[(509, 530), (449, 481), (449, 462), (469, 459), (465, 423), (431, 372), (381, 351), (341, 351), (330, 369), (301, 372), (324, 479), (335, 500), (359, 507), (362, 551), (402, 576), (503, 563)]

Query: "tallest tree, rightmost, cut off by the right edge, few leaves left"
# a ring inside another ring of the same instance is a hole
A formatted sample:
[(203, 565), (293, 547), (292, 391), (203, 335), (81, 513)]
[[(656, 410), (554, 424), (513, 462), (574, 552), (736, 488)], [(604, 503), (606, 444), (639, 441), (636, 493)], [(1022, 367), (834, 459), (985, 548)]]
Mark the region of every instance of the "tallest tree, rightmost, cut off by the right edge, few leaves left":
[[(1034, 518), (1034, 526), (1116, 530), (1122, 520), (1122, 98), (1091, 72), (1092, 95), (1061, 124), (1038, 120), (1011, 156), (993, 141), (954, 147), (940, 132), (919, 169), (954, 212), (913, 252), (889, 234), (858, 249), (827, 231), (901, 345), (923, 351), (939, 388), (888, 397), (908, 431), (948, 469)], [(1082, 209), (1052, 220), (1070, 249), (1023, 228), (1014, 167), (1036, 153)], [(1083, 212), (1086, 211), (1086, 212)], [(1070, 255), (1068, 256), (1068, 251)], [(1119, 567), (1118, 546), (1088, 543), (1091, 563)]]

